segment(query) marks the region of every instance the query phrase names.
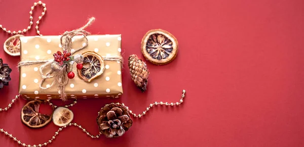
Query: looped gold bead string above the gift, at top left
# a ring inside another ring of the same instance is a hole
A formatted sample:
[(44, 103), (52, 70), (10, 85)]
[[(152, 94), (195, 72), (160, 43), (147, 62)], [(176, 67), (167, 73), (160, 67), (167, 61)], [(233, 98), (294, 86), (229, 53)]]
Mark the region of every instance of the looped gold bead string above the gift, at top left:
[(9, 33), (9, 34), (21, 34), (21, 33), (25, 33), (27, 32), (30, 28), (31, 28), (31, 25), (33, 24), (33, 17), (32, 17), (32, 14), (33, 14), (33, 10), (36, 6), (39, 6), (39, 5), (42, 5), (43, 7), (43, 12), (41, 13), (41, 16), (38, 17), (38, 20), (36, 21), (36, 32), (37, 34), (39, 34), (40, 36), (42, 36), (42, 34), (40, 33), (39, 31), (39, 21), (42, 19), (42, 17), (46, 14), (46, 11), (47, 11), (47, 7), (46, 7), (46, 4), (45, 3), (42, 3), (41, 1), (37, 2), (37, 3), (34, 3), (34, 5), (30, 8), (30, 11), (29, 11), (29, 26), (27, 27), (27, 29), (23, 29), (23, 31), (19, 30), (19, 31), (11, 31), (11, 30), (7, 30), (7, 28), (5, 28), (3, 25), (0, 24), (0, 29), (2, 29), (3, 31)]

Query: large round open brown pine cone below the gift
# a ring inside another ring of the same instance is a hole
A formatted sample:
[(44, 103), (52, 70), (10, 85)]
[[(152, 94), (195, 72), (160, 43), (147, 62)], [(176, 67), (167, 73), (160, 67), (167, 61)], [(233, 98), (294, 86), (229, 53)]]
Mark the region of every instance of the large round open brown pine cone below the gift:
[(101, 108), (97, 117), (97, 124), (101, 134), (106, 137), (120, 137), (132, 126), (132, 119), (124, 106), (115, 104)]

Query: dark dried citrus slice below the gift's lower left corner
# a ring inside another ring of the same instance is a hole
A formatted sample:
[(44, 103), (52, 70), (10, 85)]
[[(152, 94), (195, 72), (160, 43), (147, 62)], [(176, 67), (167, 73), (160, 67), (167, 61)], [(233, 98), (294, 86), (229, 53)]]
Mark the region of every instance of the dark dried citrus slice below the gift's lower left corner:
[(52, 120), (52, 115), (39, 113), (39, 107), (43, 101), (30, 101), (21, 110), (22, 122), (31, 128), (40, 128)]

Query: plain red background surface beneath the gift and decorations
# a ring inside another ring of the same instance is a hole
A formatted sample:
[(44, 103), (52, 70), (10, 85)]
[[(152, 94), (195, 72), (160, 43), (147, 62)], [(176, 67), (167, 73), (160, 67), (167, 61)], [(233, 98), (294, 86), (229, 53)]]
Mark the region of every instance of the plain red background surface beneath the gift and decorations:
[[(28, 26), (34, 1), (0, 0), (0, 24), (10, 30)], [(124, 94), (119, 100), (79, 100), (70, 109), (74, 122), (98, 134), (97, 112), (110, 102), (123, 102), (141, 113), (155, 101), (180, 107), (153, 108), (120, 138), (91, 139), (68, 127), (50, 146), (304, 146), (304, 1), (44, 1), (43, 35), (58, 35), (96, 21), (92, 34), (122, 34), (125, 62), (143, 57), (140, 41), (150, 29), (171, 32), (179, 42), (177, 58), (150, 70), (148, 90), (132, 83), (126, 64)], [(34, 11), (34, 20), (41, 14)], [(34, 21), (34, 22), (35, 22)], [(9, 37), (0, 31), (1, 44)], [(26, 35), (35, 35), (31, 29)], [(0, 90), (0, 107), (18, 94), (18, 57), (0, 51), (13, 68), (10, 86)], [(25, 100), (0, 113), (4, 128), (26, 144), (43, 143), (58, 129), (50, 123), (29, 129), (20, 121)], [(60, 103), (60, 102), (58, 102)], [(0, 134), (1, 146), (18, 146)]]

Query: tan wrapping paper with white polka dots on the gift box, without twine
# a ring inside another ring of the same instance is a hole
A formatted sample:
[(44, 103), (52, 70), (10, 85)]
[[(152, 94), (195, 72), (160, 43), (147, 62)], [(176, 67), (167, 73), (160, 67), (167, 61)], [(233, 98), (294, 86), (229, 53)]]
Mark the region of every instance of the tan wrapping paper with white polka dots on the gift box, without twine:
[[(53, 54), (57, 51), (63, 52), (59, 36), (22, 36), (20, 61), (37, 61), (54, 59)], [(88, 46), (83, 50), (74, 53), (72, 56), (84, 52), (95, 52), (102, 57), (119, 56), (121, 57), (121, 35), (88, 35)], [(72, 48), (79, 48), (85, 42), (83, 36), (74, 36)], [(74, 50), (74, 49), (72, 49)], [(39, 67), (42, 64), (27, 65), (19, 68), (20, 82), (19, 94), (24, 99), (61, 99), (60, 90), (54, 84), (48, 89), (41, 89)], [(68, 80), (65, 86), (67, 99), (87, 99), (87, 98), (118, 98), (123, 94), (121, 62), (104, 60), (104, 72), (87, 83), (77, 75), (76, 63), (73, 64), (72, 71), (75, 74), (73, 79)], [(50, 68), (50, 67), (47, 67)], [(48, 72), (46, 68), (45, 73)], [(49, 69), (51, 70), (51, 69)], [(54, 79), (46, 79), (43, 87), (52, 84)]]

